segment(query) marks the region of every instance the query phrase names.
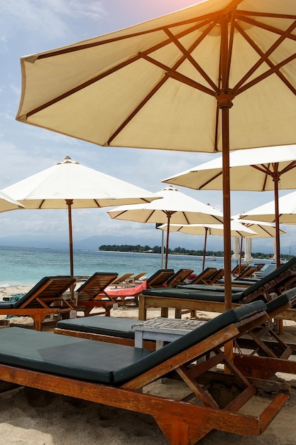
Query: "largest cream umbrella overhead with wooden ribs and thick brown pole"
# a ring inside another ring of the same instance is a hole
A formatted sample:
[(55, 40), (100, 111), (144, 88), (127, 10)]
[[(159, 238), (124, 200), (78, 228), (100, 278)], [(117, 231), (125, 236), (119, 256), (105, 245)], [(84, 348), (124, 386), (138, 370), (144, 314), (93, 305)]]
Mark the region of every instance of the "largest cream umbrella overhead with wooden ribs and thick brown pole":
[(16, 119), (102, 146), (222, 151), (229, 309), (229, 149), (296, 142), (295, 28), (295, 0), (207, 0), (28, 55)]

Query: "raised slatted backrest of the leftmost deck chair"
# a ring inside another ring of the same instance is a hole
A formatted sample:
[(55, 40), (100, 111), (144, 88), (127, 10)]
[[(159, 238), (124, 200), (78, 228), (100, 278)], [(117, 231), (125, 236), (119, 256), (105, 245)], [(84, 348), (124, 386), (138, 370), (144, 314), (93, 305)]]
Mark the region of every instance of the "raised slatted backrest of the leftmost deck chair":
[[(43, 299), (47, 306), (57, 301), (60, 296), (75, 283), (75, 278), (71, 276), (56, 276), (56, 277), (43, 277), (40, 282), (35, 284), (30, 291), (28, 291), (18, 301), (13, 301), (13, 309), (18, 309), (23, 306), (26, 308), (40, 308), (42, 305), (36, 300)], [(9, 307), (9, 306), (7, 306)], [(4, 306), (1, 306), (4, 309)]]

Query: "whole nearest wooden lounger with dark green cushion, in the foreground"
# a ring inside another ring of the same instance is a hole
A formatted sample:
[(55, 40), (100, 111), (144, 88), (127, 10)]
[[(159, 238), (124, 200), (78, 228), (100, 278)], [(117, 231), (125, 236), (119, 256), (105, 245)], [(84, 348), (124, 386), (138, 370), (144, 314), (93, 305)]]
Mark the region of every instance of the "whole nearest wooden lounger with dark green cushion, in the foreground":
[[(227, 358), (224, 345), (268, 319), (265, 309), (262, 301), (231, 309), (155, 351), (2, 329), (0, 380), (150, 414), (171, 445), (194, 444), (214, 429), (262, 434), (289, 399), (290, 386), (248, 380)], [(218, 364), (231, 373), (210, 371)], [(187, 387), (184, 399), (171, 392), (169, 397), (155, 396), (151, 385), (145, 391), (146, 385), (173, 371)], [(254, 396), (266, 393), (267, 405), (260, 414), (239, 412)]]

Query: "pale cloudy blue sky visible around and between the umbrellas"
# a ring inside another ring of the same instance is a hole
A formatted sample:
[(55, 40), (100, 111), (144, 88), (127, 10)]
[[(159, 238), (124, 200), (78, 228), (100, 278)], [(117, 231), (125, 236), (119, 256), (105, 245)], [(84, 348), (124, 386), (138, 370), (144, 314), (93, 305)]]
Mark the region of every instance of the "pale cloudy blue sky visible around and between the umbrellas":
[[(160, 191), (167, 185), (163, 178), (213, 159), (211, 154), (184, 153), (161, 150), (109, 149), (77, 141), (66, 136), (16, 122), (21, 97), (23, 55), (57, 48), (75, 41), (116, 31), (150, 18), (168, 14), (194, 4), (190, 0), (10, 0), (0, 4), (0, 188), (31, 176), (62, 161), (65, 156), (80, 161), (111, 176), (150, 191)], [(222, 210), (220, 191), (182, 193)], [(280, 192), (281, 195), (289, 193)], [(273, 199), (272, 192), (231, 193), (231, 213), (234, 215)], [(146, 244), (153, 238), (160, 245), (160, 235), (154, 225), (111, 220), (106, 210), (74, 210), (73, 237), (81, 240), (93, 235), (126, 234), (135, 244)], [(292, 240), (295, 229), (282, 227), (288, 235), (281, 237), (281, 252), (296, 248)], [(64, 210), (16, 210), (0, 214), (0, 237), (42, 236), (67, 239), (67, 213)], [(214, 248), (221, 237), (212, 237), (208, 247)], [(172, 234), (171, 242), (202, 248), (202, 237)], [(197, 240), (200, 240), (198, 242)], [(198, 244), (200, 244), (198, 246)], [(253, 241), (272, 251), (271, 240)]]

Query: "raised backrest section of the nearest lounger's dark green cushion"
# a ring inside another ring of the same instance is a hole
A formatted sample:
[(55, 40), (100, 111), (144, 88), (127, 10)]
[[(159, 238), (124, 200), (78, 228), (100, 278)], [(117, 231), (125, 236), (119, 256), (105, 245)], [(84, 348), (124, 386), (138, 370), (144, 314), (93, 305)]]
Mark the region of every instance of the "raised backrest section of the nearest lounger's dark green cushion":
[(165, 360), (169, 360), (175, 355), (182, 353), (184, 350), (190, 348), (191, 346), (203, 341), (205, 338), (209, 338), (214, 335), (221, 329), (226, 328), (226, 326), (231, 325), (232, 323), (238, 323), (248, 317), (255, 315), (256, 313), (260, 313), (265, 311), (266, 305), (263, 301), (254, 301), (249, 304), (242, 304), (241, 306), (230, 309), (224, 313), (221, 313), (219, 316), (212, 318), (212, 320), (204, 323), (204, 325), (199, 328), (194, 329), (190, 333), (185, 334), (181, 338), (165, 345), (163, 348), (155, 350), (155, 352), (148, 355), (148, 357), (142, 358), (137, 361), (136, 365), (126, 366), (121, 370), (114, 372), (114, 382), (116, 385), (121, 385), (124, 382), (128, 382), (138, 375), (143, 374), (154, 368), (160, 363), (163, 363)]

